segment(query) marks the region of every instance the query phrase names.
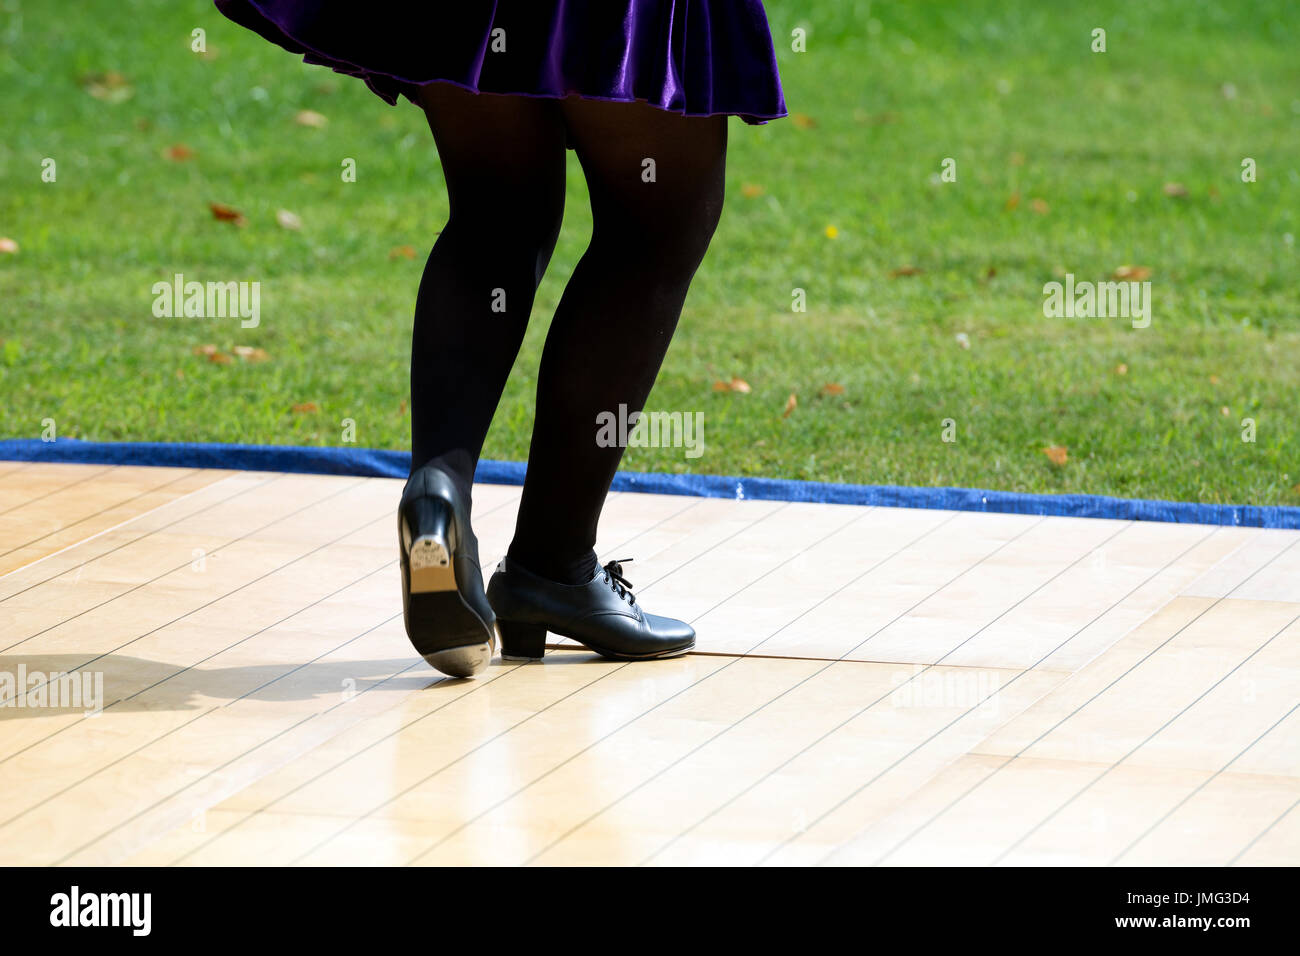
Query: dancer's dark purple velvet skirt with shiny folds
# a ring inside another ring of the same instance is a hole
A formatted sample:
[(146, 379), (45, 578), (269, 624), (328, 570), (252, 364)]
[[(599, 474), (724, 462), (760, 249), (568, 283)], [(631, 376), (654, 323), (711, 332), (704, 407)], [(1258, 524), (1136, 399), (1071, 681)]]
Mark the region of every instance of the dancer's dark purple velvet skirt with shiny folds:
[(216, 0), (387, 103), (477, 92), (645, 101), (684, 116), (785, 116), (762, 0)]

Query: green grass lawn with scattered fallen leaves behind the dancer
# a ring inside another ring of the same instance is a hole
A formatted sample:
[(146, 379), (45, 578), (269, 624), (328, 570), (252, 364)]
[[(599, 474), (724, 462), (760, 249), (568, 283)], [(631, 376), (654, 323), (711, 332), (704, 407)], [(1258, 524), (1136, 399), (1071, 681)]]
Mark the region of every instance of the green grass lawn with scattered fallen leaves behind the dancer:
[[(1300, 503), (1294, 3), (1060, 7), (770, 0), (807, 120), (733, 121), (728, 208), (650, 398), (703, 411), (706, 451), (632, 449), (624, 467)], [(446, 216), (419, 111), (198, 0), (0, 10), (0, 235), (20, 243), (0, 255), (0, 434), (53, 418), (95, 440), (335, 445), (350, 418), (359, 445), (407, 447), (410, 315)], [(195, 27), (216, 56), (190, 52)], [(1093, 27), (1108, 52), (1091, 52)], [(86, 91), (107, 70), (129, 99)], [(296, 125), (300, 109), (328, 125)], [(174, 143), (196, 155), (165, 160)], [(933, 182), (945, 157), (957, 182)], [(302, 230), (276, 224), (281, 208)], [(546, 325), (589, 228), (571, 155), (489, 457), (526, 455)], [(404, 245), (416, 258), (391, 259)], [(1044, 282), (1122, 264), (1152, 269), (1150, 328), (1044, 317)], [(890, 276), (902, 267), (922, 272)], [(151, 286), (176, 272), (260, 281), (261, 326), (155, 319)], [(203, 343), (270, 360), (214, 364)], [(753, 390), (712, 389), (733, 376)], [(829, 382), (842, 394), (820, 394)], [(318, 411), (292, 411), (307, 402)], [(1050, 445), (1069, 447), (1063, 467)]]

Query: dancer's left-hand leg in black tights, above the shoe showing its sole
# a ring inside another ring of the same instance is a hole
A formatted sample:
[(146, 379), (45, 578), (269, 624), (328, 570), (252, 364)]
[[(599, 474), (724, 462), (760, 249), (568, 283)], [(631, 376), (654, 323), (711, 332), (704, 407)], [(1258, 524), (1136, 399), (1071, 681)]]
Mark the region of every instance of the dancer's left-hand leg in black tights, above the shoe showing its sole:
[[(411, 467), (434, 462), (468, 498), (564, 212), (555, 100), (424, 88), (451, 216), (433, 246), (411, 341)], [(503, 311), (500, 311), (503, 308)]]

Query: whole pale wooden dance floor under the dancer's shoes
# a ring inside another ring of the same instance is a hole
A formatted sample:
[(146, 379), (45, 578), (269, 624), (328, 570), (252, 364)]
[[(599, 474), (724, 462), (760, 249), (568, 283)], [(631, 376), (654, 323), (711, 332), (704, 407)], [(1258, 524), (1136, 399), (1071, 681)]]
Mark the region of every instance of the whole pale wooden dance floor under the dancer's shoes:
[(0, 462), (0, 864), (1300, 864), (1300, 532), (615, 494), (697, 653), (452, 680), (399, 493)]

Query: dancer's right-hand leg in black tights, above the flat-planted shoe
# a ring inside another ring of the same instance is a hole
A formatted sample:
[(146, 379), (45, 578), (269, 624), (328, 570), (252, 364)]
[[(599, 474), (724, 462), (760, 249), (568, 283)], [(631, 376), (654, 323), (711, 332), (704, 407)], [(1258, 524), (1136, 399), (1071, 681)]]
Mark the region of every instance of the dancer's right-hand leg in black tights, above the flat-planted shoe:
[(597, 523), (621, 447), (601, 412), (641, 411), (723, 207), (725, 117), (562, 101), (592, 194), (592, 243), (560, 299), (537, 384), (510, 557), (566, 583), (595, 572)]

